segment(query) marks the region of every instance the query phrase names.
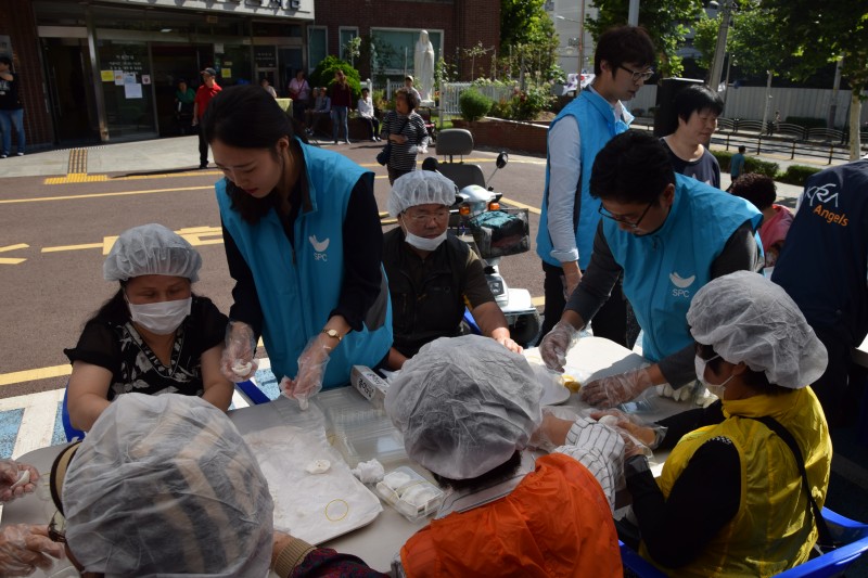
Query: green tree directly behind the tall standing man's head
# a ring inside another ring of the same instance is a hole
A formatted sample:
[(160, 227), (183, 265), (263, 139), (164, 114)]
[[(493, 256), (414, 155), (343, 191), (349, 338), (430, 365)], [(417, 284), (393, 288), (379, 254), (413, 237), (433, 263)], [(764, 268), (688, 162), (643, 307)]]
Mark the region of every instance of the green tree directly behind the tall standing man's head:
[[(612, 26), (626, 24), (628, 4), (625, 0), (593, 0), (599, 14), (597, 20), (588, 17), (585, 27), (590, 30), (595, 43)], [(639, 25), (654, 41), (660, 54), (658, 70), (662, 76), (681, 74), (684, 66), (676, 52), (684, 46), (689, 31), (687, 25), (692, 25), (702, 14), (702, 0), (644, 0), (639, 7)]]

